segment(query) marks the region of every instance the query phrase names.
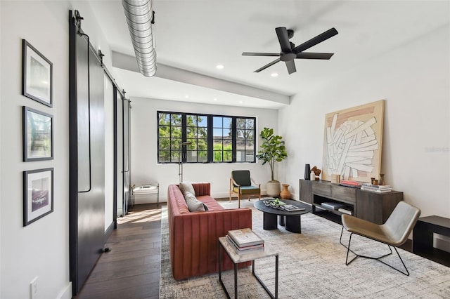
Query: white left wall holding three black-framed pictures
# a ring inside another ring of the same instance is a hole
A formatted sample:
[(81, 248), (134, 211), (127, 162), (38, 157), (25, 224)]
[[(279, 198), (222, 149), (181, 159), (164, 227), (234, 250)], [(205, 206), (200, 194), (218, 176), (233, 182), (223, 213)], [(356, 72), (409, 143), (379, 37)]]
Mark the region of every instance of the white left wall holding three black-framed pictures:
[[(110, 51), (86, 1), (0, 1), (0, 298), (30, 298), (30, 281), (38, 279), (37, 298), (70, 298), (69, 281), (69, 126), (68, 62), (70, 9), (78, 9), (82, 27)], [(53, 107), (21, 95), (22, 39), (53, 62)], [(109, 56), (109, 57), (108, 57)], [(22, 106), (53, 114), (54, 159), (23, 162)], [(23, 171), (54, 168), (54, 211), (23, 227)]]

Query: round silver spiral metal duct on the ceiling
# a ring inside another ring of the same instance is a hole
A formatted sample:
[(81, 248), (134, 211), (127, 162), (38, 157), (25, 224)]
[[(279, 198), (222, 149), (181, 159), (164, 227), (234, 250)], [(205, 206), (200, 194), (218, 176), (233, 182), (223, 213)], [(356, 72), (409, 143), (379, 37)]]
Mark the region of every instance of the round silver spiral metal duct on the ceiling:
[(156, 73), (156, 51), (153, 43), (153, 10), (151, 0), (122, 0), (129, 34), (139, 70), (146, 77)]

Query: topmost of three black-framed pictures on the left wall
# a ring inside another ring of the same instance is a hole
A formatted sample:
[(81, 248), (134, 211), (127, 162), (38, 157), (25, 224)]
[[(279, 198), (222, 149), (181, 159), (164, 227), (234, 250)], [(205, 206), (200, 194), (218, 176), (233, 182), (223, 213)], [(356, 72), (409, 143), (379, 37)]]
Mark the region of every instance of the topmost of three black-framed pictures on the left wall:
[(22, 40), (22, 95), (53, 106), (53, 63)]

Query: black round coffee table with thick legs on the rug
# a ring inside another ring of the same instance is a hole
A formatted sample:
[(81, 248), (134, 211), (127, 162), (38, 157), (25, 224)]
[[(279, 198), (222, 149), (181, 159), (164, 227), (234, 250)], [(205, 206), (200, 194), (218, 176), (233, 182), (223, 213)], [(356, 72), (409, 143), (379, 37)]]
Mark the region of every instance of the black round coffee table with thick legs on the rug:
[(266, 206), (265, 201), (262, 199), (255, 201), (255, 208), (264, 213), (263, 215), (263, 228), (264, 230), (276, 230), (278, 225), (276, 224), (276, 218), (279, 217), (279, 224), (285, 226), (289, 232), (302, 233), (302, 222), (300, 216), (311, 212), (311, 206), (304, 204), (301, 201), (295, 201), (292, 199), (279, 199), (285, 204), (292, 204), (299, 208), (304, 208), (302, 211), (285, 211), (283, 208), (272, 208)]

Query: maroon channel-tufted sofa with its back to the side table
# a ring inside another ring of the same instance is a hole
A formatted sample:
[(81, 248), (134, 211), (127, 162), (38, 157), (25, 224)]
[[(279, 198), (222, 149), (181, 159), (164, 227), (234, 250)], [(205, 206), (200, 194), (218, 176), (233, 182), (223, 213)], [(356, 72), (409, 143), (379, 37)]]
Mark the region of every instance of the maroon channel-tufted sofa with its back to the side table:
[[(169, 219), (170, 263), (174, 279), (186, 279), (219, 271), (219, 237), (229, 230), (252, 227), (250, 208), (223, 208), (210, 196), (209, 182), (192, 184), (195, 197), (208, 211), (190, 212), (179, 185), (169, 185), (167, 209)], [(228, 255), (223, 255), (222, 270), (233, 269)], [(240, 267), (251, 265), (240, 264)]]

